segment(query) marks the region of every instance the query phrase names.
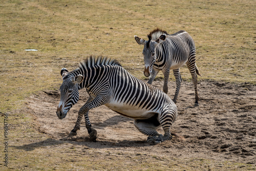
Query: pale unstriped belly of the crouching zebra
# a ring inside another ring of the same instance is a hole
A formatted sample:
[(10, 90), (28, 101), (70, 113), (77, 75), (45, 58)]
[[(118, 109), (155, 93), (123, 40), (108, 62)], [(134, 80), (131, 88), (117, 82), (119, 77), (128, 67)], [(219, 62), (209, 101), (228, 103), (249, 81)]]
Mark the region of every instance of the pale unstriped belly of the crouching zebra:
[(125, 105), (123, 103), (108, 103), (105, 104), (112, 111), (117, 112), (120, 115), (134, 118), (134, 119), (148, 119), (153, 117), (157, 112), (156, 111), (148, 111), (145, 109), (136, 108), (136, 106)]

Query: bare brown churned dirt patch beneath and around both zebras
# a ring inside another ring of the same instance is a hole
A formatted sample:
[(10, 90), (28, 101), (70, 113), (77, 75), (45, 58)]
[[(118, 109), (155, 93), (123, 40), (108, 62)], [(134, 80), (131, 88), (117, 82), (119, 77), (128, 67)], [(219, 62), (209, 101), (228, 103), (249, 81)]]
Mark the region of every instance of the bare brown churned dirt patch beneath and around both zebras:
[[(162, 89), (163, 82), (155, 81), (153, 85)], [(172, 98), (174, 88), (175, 82), (169, 81), (168, 95)], [(124, 154), (232, 161), (255, 166), (256, 87), (246, 82), (234, 84), (204, 80), (199, 81), (198, 89), (199, 107), (194, 107), (192, 82), (182, 83), (178, 97), (178, 118), (172, 131), (186, 140), (174, 136), (172, 140), (157, 145), (146, 142), (147, 136), (135, 128), (133, 119), (123, 117), (106, 106), (100, 106), (89, 113), (91, 123), (98, 132), (97, 142), (90, 142), (84, 120), (77, 136), (68, 137), (75, 125), (78, 110), (88, 98), (85, 90), (80, 90), (78, 103), (62, 120), (56, 116), (60, 99), (58, 91), (34, 94), (27, 104), (29, 112), (36, 118), (36, 129), (49, 135), (49, 141), (72, 141), (87, 148), (105, 148), (110, 153), (121, 150)], [(161, 129), (159, 132), (163, 133)]]

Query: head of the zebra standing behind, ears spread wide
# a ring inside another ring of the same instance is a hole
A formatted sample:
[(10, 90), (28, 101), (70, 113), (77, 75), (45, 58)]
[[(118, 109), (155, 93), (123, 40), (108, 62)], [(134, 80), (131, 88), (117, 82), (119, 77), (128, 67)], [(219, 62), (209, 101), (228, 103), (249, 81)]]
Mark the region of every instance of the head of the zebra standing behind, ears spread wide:
[(151, 75), (152, 67), (156, 61), (156, 46), (165, 40), (166, 34), (160, 35), (160, 37), (156, 40), (151, 40), (150, 36), (148, 36), (148, 40), (144, 40), (138, 36), (134, 37), (139, 45), (144, 45), (144, 49), (142, 51), (145, 65), (144, 75), (149, 77)]

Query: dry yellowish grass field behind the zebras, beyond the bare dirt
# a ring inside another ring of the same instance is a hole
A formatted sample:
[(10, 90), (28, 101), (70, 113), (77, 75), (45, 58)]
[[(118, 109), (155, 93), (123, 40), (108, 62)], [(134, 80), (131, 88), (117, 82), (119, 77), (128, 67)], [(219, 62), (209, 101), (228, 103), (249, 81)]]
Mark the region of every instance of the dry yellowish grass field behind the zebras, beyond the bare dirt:
[[(186, 30), (193, 36), (197, 66), (202, 73), (199, 80), (256, 82), (254, 1), (13, 0), (3, 1), (0, 7), (0, 111), (3, 113), (22, 111), (24, 99), (31, 93), (58, 87), (60, 69), (73, 70), (84, 56), (91, 54), (116, 58), (133, 75), (145, 79), (142, 47), (134, 35), (146, 38), (156, 27), (168, 33)], [(181, 72), (184, 80), (190, 79), (185, 67)], [(25, 143), (19, 135), (30, 127), (32, 120), (22, 112), (13, 114), (10, 132), (17, 143)], [(33, 130), (27, 133), (32, 135), (31, 141), (45, 138)], [(34, 158), (33, 166), (37, 166), (36, 162), (48, 165), (48, 160), (41, 160), (37, 152), (26, 157), (19, 156), (22, 150), (12, 149), (12, 152), (10, 163)], [(13, 168), (18, 169), (15, 164)], [(101, 168), (100, 165), (98, 169)], [(184, 169), (191, 168), (184, 166)]]

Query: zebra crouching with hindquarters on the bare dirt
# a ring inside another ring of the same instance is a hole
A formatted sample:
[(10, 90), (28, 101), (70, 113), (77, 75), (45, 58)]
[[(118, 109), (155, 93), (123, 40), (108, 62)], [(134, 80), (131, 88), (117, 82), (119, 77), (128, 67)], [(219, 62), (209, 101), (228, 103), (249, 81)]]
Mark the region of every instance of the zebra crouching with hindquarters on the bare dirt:
[[(78, 90), (86, 88), (90, 95), (78, 112), (71, 136), (77, 135), (84, 115), (90, 139), (96, 141), (97, 131), (92, 128), (88, 113), (100, 105), (133, 118), (135, 127), (148, 136), (148, 143), (158, 144), (172, 139), (172, 134), (177, 136), (170, 133), (170, 127), (177, 118), (176, 104), (161, 90), (131, 75), (116, 59), (89, 56), (80, 62), (77, 69), (69, 72), (62, 68), (60, 74), (63, 82), (56, 112), (59, 119), (65, 118), (77, 103)], [(161, 126), (164, 135), (156, 131)]]

